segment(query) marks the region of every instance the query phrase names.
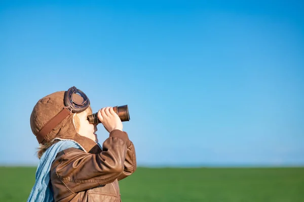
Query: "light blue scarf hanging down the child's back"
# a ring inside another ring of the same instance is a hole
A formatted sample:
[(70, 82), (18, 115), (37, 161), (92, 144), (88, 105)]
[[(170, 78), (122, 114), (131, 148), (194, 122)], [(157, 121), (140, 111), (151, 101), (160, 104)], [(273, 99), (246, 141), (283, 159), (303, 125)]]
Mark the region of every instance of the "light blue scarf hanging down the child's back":
[(48, 148), (42, 155), (37, 171), (36, 171), (36, 182), (29, 194), (27, 202), (53, 202), (53, 189), (50, 180), (50, 170), (53, 161), (58, 152), (67, 148), (78, 148), (82, 149), (79, 144), (70, 141), (59, 141)]

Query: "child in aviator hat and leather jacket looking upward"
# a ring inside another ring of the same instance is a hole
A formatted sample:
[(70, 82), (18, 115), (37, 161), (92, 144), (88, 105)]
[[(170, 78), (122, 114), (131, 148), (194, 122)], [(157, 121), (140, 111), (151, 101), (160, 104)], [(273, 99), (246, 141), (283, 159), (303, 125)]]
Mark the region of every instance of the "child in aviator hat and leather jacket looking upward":
[(136, 170), (135, 148), (111, 107), (98, 111), (109, 132), (102, 147), (90, 124), (90, 101), (71, 87), (43, 97), (30, 116), (40, 143), (36, 182), (27, 201), (121, 201), (118, 181)]

